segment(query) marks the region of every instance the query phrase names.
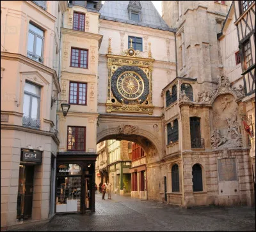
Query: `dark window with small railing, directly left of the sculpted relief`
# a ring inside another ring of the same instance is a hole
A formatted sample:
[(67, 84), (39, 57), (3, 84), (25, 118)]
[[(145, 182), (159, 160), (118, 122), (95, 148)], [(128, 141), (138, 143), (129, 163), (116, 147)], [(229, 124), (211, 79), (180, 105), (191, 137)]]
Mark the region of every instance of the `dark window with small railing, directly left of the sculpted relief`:
[(202, 148), (200, 118), (190, 117), (191, 148)]

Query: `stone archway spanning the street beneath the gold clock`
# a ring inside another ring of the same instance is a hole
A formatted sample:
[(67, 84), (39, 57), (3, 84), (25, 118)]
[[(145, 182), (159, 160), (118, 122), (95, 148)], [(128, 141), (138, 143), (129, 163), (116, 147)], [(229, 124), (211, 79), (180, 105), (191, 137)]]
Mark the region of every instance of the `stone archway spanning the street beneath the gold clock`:
[(160, 161), (164, 156), (160, 117), (100, 114), (97, 143), (111, 139), (138, 143), (150, 163)]

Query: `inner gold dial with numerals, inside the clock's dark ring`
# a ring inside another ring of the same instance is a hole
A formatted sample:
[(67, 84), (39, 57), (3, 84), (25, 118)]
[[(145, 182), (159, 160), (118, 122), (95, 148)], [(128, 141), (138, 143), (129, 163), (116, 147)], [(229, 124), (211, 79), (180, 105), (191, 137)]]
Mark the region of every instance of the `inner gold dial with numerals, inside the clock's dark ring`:
[(138, 73), (125, 71), (118, 76), (116, 87), (124, 98), (134, 100), (143, 94), (144, 82)]

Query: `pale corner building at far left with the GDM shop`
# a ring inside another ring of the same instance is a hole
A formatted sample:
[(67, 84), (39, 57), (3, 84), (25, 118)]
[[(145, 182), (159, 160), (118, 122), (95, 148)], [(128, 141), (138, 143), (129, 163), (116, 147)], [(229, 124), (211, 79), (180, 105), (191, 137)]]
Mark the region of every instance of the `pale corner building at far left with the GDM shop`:
[(65, 1), (1, 3), (1, 229), (54, 215)]

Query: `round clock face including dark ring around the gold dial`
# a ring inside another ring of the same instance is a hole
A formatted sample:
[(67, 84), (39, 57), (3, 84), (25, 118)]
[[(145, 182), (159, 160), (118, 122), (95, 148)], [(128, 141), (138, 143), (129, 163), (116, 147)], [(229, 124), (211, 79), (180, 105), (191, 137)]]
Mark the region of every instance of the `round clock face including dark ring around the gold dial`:
[[(149, 81), (144, 71), (136, 66), (121, 66), (111, 77), (111, 92), (125, 105), (140, 105), (147, 100)], [(111, 99), (115, 103), (115, 99)]]

